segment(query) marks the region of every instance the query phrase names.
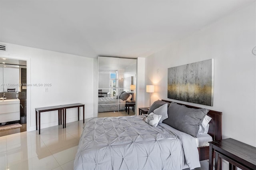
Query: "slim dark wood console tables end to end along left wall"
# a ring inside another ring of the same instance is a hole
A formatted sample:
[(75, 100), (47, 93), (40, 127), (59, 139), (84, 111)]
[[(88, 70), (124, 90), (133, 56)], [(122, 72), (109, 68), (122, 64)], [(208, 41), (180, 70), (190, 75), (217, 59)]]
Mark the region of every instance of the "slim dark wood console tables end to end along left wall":
[[(38, 107), (36, 109), (36, 130), (39, 129), (38, 133), (40, 134), (40, 125), (41, 125), (41, 112), (49, 112), (49, 111), (58, 111), (58, 124), (61, 125), (63, 118), (63, 128), (66, 128), (66, 109), (69, 108), (78, 108), (78, 121), (79, 121), (79, 108), (83, 107), (83, 119), (84, 119), (84, 104), (82, 103), (73, 103), (68, 105), (57, 105), (57, 106), (49, 106), (49, 107)], [(38, 113), (38, 117), (37, 117)], [(63, 114), (63, 116), (62, 116)], [(38, 121), (38, 128), (37, 128), (37, 121)], [(84, 121), (83, 121), (84, 123)]]

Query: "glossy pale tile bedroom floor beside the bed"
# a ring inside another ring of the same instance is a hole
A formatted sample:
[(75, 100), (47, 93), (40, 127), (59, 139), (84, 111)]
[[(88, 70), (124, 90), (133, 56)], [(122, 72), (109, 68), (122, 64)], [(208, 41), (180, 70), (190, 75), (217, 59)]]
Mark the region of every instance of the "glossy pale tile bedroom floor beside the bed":
[[(72, 170), (83, 122), (0, 137), (0, 170)], [(208, 169), (208, 162), (201, 162)]]

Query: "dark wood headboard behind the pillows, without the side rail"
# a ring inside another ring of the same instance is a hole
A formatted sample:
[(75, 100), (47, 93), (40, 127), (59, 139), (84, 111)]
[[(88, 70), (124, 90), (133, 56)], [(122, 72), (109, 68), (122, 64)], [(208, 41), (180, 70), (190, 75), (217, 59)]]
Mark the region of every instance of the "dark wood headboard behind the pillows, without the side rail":
[[(167, 100), (162, 100), (162, 101), (172, 103), (172, 101), (167, 101)], [(178, 104), (184, 105), (181, 103), (178, 103)], [(189, 108), (194, 108), (194, 109), (200, 109), (200, 107), (195, 107), (190, 105), (184, 105), (184, 106)], [(207, 115), (212, 118), (212, 120), (209, 122), (210, 127), (209, 127), (208, 134), (212, 136), (212, 140), (221, 140), (222, 139), (222, 112), (209, 110)]]

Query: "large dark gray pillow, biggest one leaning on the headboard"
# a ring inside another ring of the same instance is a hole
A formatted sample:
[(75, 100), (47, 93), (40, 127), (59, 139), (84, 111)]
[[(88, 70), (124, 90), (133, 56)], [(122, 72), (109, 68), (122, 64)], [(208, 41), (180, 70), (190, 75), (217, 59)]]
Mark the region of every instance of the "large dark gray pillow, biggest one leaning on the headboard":
[(168, 107), (168, 118), (163, 123), (196, 137), (199, 125), (202, 124), (208, 111), (208, 109), (187, 108), (172, 102)]

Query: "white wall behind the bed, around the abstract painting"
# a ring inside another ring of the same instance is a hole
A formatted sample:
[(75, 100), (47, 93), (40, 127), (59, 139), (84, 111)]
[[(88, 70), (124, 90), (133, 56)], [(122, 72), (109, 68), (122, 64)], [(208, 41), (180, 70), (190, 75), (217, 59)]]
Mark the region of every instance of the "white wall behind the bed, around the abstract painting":
[[(152, 101), (167, 99), (167, 69), (214, 58), (213, 107), (222, 111), (223, 138), (256, 146), (255, 3), (146, 58), (146, 84), (156, 85)], [(145, 103), (149, 101), (145, 94)], [(168, 99), (170, 101), (175, 101)]]

